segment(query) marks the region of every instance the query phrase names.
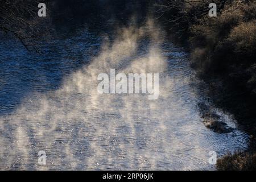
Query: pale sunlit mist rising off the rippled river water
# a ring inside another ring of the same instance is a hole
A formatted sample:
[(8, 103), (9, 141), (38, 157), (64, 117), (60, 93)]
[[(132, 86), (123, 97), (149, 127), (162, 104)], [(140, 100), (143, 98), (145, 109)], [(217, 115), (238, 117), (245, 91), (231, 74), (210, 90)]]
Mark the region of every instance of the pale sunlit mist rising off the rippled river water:
[[(12, 115), (0, 118), (1, 169), (214, 169), (208, 152), (243, 149), (247, 135), (217, 134), (200, 121), (202, 100), (190, 86), (184, 52), (165, 45), (158, 28), (122, 28), (98, 56), (72, 73), (59, 90), (31, 94)], [(139, 55), (143, 39), (150, 42)], [(174, 59), (168, 59), (169, 56)], [(159, 98), (99, 94), (97, 76), (159, 73)], [(197, 84), (197, 81), (194, 81)], [(228, 118), (227, 115), (225, 115)], [(38, 152), (46, 151), (46, 166)]]

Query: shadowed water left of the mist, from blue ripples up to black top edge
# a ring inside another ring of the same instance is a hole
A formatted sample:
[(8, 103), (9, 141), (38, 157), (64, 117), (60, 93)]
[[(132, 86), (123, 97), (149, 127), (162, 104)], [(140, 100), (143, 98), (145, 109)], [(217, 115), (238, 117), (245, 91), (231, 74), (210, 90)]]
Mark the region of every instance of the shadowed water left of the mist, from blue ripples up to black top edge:
[(11, 35), (0, 35), (0, 115), (12, 113), (33, 92), (60, 87), (63, 78), (97, 55), (102, 36), (118, 27), (141, 24), (150, 1), (45, 1), (49, 8), (51, 40), (42, 53), (28, 51)]

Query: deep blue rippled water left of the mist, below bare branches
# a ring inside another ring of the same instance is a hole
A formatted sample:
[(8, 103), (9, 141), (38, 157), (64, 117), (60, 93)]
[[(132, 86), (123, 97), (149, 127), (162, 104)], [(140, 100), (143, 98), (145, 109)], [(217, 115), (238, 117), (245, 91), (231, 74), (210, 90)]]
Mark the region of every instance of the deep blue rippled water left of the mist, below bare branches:
[(0, 44), (0, 114), (9, 114), (32, 92), (58, 89), (63, 78), (90, 61), (101, 39), (93, 33), (54, 40), (42, 53), (27, 51), (15, 39)]

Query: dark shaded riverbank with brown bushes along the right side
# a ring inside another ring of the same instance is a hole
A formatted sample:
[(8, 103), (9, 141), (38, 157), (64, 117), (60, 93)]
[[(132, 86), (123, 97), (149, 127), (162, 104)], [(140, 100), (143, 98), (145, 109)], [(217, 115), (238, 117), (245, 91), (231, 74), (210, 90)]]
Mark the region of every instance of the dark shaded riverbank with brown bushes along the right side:
[(209, 83), (212, 102), (251, 136), (247, 151), (222, 156), (217, 169), (255, 169), (256, 2), (216, 1), (216, 17), (209, 17), (209, 3), (167, 1), (156, 7), (170, 35), (189, 45), (192, 67)]

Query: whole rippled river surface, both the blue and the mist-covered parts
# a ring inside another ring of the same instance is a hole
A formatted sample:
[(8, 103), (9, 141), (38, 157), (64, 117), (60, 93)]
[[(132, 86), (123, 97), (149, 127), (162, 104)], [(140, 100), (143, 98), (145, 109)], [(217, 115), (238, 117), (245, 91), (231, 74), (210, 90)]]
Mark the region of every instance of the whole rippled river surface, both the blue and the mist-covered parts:
[[(204, 126), (197, 105), (211, 105), (209, 86), (153, 22), (99, 29), (60, 31), (40, 55), (1, 38), (0, 169), (214, 170), (209, 151), (246, 149), (232, 115), (215, 108), (230, 133)], [(99, 94), (97, 75), (110, 69), (159, 73), (158, 100)]]

